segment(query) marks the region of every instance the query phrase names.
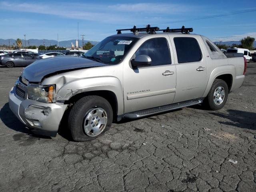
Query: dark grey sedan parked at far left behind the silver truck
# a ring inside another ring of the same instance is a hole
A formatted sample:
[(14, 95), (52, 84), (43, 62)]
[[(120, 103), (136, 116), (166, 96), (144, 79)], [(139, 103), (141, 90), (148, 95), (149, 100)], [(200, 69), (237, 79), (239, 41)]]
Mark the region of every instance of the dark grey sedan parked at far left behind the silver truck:
[(1, 65), (8, 68), (15, 66), (28, 66), (36, 60), (36, 56), (24, 53), (11, 53), (0, 56)]

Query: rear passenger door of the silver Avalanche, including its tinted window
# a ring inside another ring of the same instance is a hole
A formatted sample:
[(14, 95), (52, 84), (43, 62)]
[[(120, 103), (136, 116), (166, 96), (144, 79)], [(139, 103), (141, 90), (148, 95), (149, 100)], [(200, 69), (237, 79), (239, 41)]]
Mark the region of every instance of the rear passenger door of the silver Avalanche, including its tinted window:
[(177, 85), (174, 103), (200, 98), (206, 89), (207, 63), (198, 36), (174, 36)]

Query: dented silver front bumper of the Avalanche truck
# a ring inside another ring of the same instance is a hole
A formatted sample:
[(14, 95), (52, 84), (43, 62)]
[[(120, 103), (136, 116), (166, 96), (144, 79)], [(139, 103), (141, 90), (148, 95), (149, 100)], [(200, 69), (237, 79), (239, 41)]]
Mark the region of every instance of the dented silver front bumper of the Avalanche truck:
[(56, 136), (66, 104), (42, 103), (15, 96), (15, 87), (9, 93), (9, 106), (16, 117), (35, 134)]

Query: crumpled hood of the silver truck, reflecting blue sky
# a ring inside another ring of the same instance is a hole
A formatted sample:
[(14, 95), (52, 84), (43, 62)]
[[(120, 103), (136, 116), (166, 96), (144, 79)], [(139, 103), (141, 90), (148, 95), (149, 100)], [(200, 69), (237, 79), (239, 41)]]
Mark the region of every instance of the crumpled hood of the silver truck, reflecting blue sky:
[(44, 76), (54, 72), (98, 66), (108, 65), (81, 57), (57, 56), (36, 60), (24, 68), (21, 76), (29, 82), (41, 82)]

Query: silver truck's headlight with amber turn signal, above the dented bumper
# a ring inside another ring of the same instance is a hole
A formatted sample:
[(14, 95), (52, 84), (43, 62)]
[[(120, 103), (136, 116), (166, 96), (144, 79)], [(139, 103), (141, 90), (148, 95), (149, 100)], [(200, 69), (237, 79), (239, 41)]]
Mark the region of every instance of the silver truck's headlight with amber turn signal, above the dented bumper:
[(28, 98), (44, 103), (55, 102), (55, 85), (28, 86)]

